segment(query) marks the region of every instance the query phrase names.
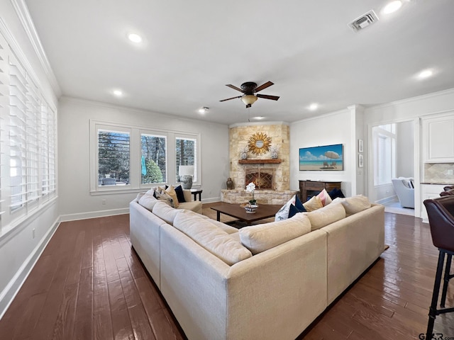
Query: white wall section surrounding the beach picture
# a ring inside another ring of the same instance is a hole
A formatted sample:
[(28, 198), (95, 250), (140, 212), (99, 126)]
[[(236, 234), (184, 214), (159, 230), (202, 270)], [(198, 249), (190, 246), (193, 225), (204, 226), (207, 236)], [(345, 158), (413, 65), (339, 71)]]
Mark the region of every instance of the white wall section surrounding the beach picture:
[[(341, 181), (345, 196), (352, 195), (356, 180), (356, 114), (348, 109), (290, 125), (290, 189), (299, 190), (300, 180)], [(352, 137), (353, 136), (353, 137)], [(343, 144), (343, 171), (299, 171), (299, 149)]]

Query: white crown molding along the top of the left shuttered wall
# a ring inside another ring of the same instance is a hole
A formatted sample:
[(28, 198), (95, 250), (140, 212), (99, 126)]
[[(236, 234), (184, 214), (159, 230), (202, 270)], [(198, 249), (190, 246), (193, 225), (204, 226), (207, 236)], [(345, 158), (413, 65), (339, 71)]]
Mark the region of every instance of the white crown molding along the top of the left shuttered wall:
[(52, 71), (48, 56), (45, 54), (45, 50), (43, 48), (43, 45), (41, 44), (41, 40), (39, 38), (38, 32), (36, 31), (35, 24), (33, 23), (25, 1), (11, 0), (11, 4), (13, 5), (14, 10), (16, 11), (17, 16), (22, 23), (23, 29), (26, 31), (28, 40), (30, 40), (31, 45), (33, 46), (33, 50), (35, 50), (35, 53), (38, 56), (41, 67), (43, 67), (46, 77), (48, 77), (48, 81), (50, 82), (55, 95), (57, 97), (60, 97), (62, 95), (62, 89), (60, 89), (57, 78)]

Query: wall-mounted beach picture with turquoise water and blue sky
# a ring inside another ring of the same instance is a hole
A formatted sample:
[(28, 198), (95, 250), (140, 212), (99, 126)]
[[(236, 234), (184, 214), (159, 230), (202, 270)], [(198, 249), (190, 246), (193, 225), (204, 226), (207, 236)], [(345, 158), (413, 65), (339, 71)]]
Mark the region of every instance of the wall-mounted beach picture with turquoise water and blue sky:
[(343, 145), (299, 149), (299, 171), (342, 171)]

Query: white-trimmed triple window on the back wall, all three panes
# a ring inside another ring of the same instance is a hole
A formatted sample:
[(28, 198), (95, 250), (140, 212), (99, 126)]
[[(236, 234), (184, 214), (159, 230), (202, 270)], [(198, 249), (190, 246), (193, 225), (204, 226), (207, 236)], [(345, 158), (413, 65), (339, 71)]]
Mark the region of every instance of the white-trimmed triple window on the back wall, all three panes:
[(194, 166), (201, 184), (198, 134), (90, 120), (90, 135), (93, 195), (176, 184), (180, 165)]

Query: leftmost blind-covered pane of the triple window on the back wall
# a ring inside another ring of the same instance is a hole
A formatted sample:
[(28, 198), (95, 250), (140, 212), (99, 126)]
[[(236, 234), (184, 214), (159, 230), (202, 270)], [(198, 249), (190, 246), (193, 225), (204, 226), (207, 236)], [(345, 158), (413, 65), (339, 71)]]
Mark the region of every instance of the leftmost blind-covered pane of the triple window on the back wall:
[(129, 133), (98, 130), (98, 185), (129, 184)]

